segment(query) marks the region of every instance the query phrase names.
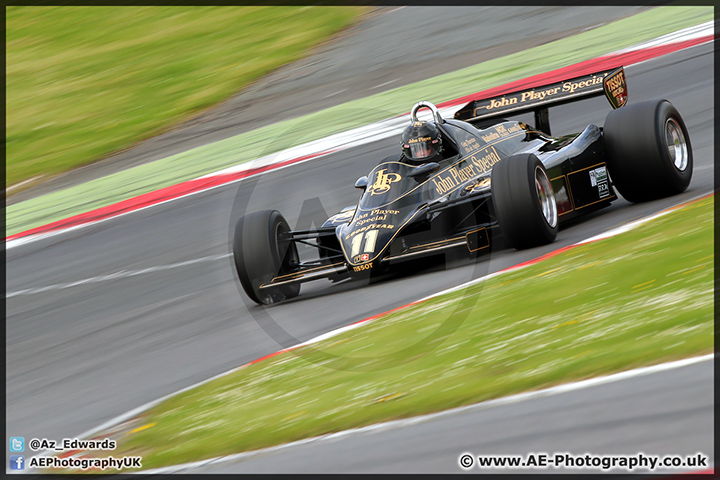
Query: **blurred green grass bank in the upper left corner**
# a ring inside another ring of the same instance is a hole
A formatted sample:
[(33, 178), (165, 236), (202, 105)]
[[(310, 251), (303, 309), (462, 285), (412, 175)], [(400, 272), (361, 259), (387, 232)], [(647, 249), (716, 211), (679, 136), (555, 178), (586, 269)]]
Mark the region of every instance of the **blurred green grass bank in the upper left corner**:
[(7, 185), (167, 130), (353, 22), (359, 7), (8, 7)]

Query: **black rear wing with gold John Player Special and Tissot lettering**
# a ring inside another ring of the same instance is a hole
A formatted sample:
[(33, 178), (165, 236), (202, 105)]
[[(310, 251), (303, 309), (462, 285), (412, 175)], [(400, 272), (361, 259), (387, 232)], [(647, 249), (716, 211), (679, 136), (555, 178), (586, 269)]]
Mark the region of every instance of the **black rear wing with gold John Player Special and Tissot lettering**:
[(473, 100), (455, 113), (457, 120), (473, 124), (520, 113), (535, 113), (535, 128), (550, 135), (548, 107), (605, 94), (613, 108), (627, 103), (625, 70), (605, 70), (528, 90)]

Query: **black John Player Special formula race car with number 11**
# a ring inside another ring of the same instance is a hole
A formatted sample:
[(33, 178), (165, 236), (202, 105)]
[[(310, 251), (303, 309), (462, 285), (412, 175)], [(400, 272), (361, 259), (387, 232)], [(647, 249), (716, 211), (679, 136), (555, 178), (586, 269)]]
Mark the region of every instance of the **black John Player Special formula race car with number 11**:
[[(604, 127), (550, 135), (548, 107), (603, 94), (613, 107)], [(293, 231), (275, 210), (238, 221), (240, 283), (253, 301), (270, 304), (295, 297), (309, 280), (360, 278), (451, 250), (489, 251), (493, 231), (517, 249), (547, 244), (560, 224), (617, 199), (616, 189), (631, 202), (684, 191), (693, 158), (680, 114), (667, 100), (626, 102), (620, 67), (474, 100), (454, 119), (417, 103), (406, 130), (415, 135), (403, 134), (404, 153), (355, 182), (363, 191), (356, 206), (315, 230)], [(418, 120), (421, 108), (432, 122)], [(529, 112), (534, 127), (503, 118)], [(317, 258), (301, 261), (297, 243), (316, 247)]]

